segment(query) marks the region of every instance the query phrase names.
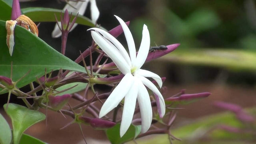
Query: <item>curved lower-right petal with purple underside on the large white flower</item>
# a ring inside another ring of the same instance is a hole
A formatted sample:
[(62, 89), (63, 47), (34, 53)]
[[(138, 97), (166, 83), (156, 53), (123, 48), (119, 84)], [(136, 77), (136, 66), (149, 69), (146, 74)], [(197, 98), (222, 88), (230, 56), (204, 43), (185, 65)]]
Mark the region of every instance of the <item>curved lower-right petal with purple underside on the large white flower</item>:
[(157, 89), (157, 87), (147, 78), (143, 77), (143, 76), (136, 76), (139, 77), (141, 82), (148, 87), (149, 89), (151, 89), (160, 99), (160, 107), (161, 107), (161, 117), (163, 115), (165, 115), (165, 100), (163, 99), (162, 94), (160, 93), (160, 91)]

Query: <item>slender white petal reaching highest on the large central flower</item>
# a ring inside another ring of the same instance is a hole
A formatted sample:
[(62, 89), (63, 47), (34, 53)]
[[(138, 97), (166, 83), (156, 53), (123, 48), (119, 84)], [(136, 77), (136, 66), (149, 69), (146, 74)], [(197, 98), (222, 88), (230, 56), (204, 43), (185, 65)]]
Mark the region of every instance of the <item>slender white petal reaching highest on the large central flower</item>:
[(117, 20), (119, 21), (120, 25), (122, 26), (122, 28), (124, 30), (125, 38), (126, 38), (127, 45), (129, 48), (131, 63), (134, 66), (134, 63), (136, 60), (136, 48), (135, 48), (135, 44), (134, 44), (134, 40), (132, 38), (131, 32), (130, 32), (128, 26), (125, 24), (125, 22), (120, 17), (118, 17), (116, 15), (115, 15), (115, 17), (117, 18)]

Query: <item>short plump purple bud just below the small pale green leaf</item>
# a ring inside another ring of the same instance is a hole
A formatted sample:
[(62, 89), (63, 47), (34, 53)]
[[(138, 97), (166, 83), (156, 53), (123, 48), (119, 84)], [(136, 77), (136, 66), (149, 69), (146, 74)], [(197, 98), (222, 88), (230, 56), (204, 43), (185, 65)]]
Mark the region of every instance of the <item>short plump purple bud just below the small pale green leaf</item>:
[(70, 94), (65, 94), (62, 96), (48, 96), (49, 102), (48, 105), (51, 106), (54, 110), (58, 111), (62, 109), (64, 105), (67, 104), (69, 99), (72, 97)]

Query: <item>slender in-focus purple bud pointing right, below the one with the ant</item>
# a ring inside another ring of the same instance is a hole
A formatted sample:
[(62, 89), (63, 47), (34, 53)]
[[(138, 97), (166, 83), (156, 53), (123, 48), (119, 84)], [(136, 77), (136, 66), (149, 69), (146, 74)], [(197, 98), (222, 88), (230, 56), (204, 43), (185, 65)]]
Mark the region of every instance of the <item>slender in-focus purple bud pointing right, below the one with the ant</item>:
[(183, 94), (179, 97), (171, 97), (165, 99), (166, 101), (181, 101), (181, 100), (191, 100), (191, 99), (198, 99), (198, 98), (205, 98), (210, 96), (212, 93), (210, 92), (202, 92), (202, 93), (194, 93), (194, 94)]

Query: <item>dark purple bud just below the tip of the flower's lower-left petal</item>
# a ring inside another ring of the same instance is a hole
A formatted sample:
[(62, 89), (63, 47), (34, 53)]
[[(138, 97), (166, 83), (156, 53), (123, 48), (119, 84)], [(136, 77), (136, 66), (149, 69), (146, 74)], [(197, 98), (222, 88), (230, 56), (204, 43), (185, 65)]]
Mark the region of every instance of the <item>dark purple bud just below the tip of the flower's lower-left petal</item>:
[(114, 127), (116, 123), (100, 118), (93, 118), (90, 121), (90, 125), (95, 129), (105, 130)]

